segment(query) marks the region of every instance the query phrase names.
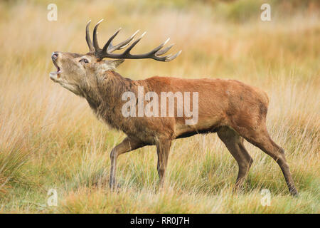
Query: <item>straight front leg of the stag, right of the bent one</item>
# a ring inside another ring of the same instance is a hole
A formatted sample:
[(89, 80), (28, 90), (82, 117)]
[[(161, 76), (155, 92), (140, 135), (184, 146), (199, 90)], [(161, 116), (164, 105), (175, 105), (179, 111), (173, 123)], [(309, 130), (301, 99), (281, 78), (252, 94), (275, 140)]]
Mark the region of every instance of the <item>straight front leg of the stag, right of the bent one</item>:
[(164, 184), (164, 173), (168, 162), (171, 140), (161, 140), (156, 144), (156, 152), (158, 154), (157, 170), (159, 174), (159, 187)]

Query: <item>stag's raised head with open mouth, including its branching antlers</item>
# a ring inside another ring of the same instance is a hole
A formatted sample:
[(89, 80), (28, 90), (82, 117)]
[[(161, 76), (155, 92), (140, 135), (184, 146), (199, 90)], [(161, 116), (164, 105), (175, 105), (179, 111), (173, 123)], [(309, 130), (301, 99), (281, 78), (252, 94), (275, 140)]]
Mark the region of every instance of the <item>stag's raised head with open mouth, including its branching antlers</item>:
[[(50, 78), (54, 82), (59, 83), (64, 88), (67, 88), (77, 95), (82, 95), (82, 90), (84, 90), (85, 87), (90, 86), (90, 82), (97, 81), (97, 78), (103, 76), (105, 71), (114, 71), (115, 68), (117, 68), (117, 66), (119, 66), (119, 64), (122, 63), (125, 58), (152, 58), (156, 61), (168, 62), (176, 58), (181, 53), (181, 51), (178, 51), (178, 53), (176, 53), (174, 56), (162, 56), (173, 46), (171, 45), (163, 48), (164, 45), (169, 41), (168, 38), (164, 43), (161, 43), (160, 46), (154, 48), (148, 53), (137, 55), (131, 54), (130, 51), (142, 39), (145, 33), (131, 43), (134, 39), (134, 36), (136, 36), (139, 32), (138, 30), (132, 36), (127, 38), (127, 40), (113, 46), (112, 41), (114, 37), (117, 36), (121, 28), (119, 28), (109, 38), (103, 48), (100, 48), (97, 43), (97, 26), (101, 21), (95, 25), (93, 30), (93, 42), (91, 41), (89, 34), (90, 21), (87, 23), (85, 39), (90, 50), (88, 53), (79, 54), (55, 51), (51, 56), (57, 71), (51, 72)], [(122, 53), (113, 53), (114, 51), (127, 47), (129, 44), (130, 46)], [(106, 61), (103, 58), (114, 58), (114, 60)]]

